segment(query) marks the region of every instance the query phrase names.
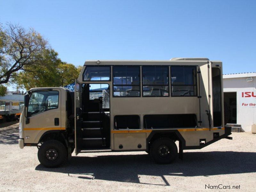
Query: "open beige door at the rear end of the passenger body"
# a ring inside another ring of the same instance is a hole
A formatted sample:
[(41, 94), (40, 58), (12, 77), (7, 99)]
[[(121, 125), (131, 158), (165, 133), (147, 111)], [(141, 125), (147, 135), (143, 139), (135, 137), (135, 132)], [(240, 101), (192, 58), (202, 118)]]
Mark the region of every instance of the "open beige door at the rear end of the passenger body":
[(212, 71), (211, 62), (199, 67), (200, 116), (201, 126), (212, 128)]

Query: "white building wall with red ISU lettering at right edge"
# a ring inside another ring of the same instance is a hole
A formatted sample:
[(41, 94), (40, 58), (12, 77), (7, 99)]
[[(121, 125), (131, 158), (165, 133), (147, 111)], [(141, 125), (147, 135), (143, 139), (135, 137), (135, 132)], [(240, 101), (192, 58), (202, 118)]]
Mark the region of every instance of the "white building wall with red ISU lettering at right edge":
[[(256, 95), (256, 76), (252, 77), (253, 80), (246, 82), (248, 77), (238, 78), (223, 78), (224, 92), (236, 92), (236, 107), (237, 107), (237, 122), (241, 124), (242, 129), (246, 132), (251, 132), (252, 124), (256, 124), (256, 106), (242, 106), (242, 103), (256, 103), (256, 97), (242, 97), (241, 92), (254, 92)], [(245, 95), (244, 95), (245, 96)]]

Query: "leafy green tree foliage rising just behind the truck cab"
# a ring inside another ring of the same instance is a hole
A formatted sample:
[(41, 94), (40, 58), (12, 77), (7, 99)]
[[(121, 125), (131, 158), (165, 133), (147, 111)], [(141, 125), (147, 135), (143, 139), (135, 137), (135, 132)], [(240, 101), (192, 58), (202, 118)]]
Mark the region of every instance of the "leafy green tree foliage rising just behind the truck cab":
[(40, 61), (33, 66), (24, 67), (17, 81), (26, 90), (33, 87), (63, 87), (73, 83), (80, 73), (80, 68), (62, 62), (53, 49), (45, 49), (39, 54)]

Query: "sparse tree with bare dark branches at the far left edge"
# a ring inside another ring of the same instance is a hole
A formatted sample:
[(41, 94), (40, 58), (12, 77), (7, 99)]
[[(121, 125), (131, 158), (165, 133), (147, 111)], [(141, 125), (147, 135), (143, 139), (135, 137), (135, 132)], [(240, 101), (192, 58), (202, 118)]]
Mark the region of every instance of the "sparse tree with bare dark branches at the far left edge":
[(1, 28), (0, 35), (0, 84), (6, 84), (15, 72), (40, 61), (37, 55), (45, 49), (47, 41), (33, 28), (26, 30), (11, 23), (7, 23), (7, 29)]

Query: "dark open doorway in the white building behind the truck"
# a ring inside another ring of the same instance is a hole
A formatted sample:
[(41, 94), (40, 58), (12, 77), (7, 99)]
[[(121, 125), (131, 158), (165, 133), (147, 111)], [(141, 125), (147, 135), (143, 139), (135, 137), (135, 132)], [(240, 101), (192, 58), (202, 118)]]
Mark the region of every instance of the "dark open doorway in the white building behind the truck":
[(236, 92), (224, 92), (224, 113), (228, 116), (228, 124), (236, 124)]

